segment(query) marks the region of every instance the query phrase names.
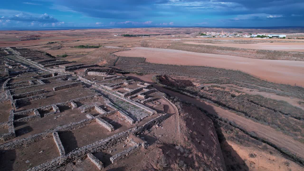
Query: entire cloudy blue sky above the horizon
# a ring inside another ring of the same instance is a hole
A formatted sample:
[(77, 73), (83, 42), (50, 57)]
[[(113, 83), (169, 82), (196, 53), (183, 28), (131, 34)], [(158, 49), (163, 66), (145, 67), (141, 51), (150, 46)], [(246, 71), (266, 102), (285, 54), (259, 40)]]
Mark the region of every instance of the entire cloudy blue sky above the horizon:
[(0, 28), (304, 26), (304, 0), (3, 0)]

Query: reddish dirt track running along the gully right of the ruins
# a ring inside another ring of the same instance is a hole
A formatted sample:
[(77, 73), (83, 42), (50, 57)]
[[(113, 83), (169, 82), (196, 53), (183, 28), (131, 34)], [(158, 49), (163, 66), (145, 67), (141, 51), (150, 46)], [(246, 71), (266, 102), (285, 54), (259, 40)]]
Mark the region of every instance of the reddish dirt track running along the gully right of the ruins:
[(154, 74), (149, 75), (135, 75), (135, 74), (127, 74), (127, 76), (130, 76), (132, 79), (137, 79), (141, 81), (148, 82), (150, 84), (153, 84), (155, 88), (158, 90), (165, 92), (169, 94), (170, 96), (176, 96), (179, 99), (192, 103), (196, 106), (200, 106), (209, 113), (215, 113), (218, 114), (220, 117), (227, 118), (228, 120), (234, 121), (236, 124), (241, 125), (244, 127), (248, 132), (254, 131), (259, 137), (263, 139), (267, 139), (269, 142), (278, 145), (281, 148), (286, 148), (290, 152), (297, 154), (298, 156), (304, 158), (304, 144), (302, 144), (299, 141), (294, 140), (292, 137), (283, 134), (282, 132), (275, 131), (275, 129), (259, 124), (257, 122), (254, 122), (250, 119), (247, 119), (245, 117), (241, 117), (235, 113), (229, 112), (228, 110), (224, 110), (220, 107), (214, 106), (210, 103), (206, 103), (204, 101), (200, 101), (198, 99), (194, 99), (189, 96), (182, 95), (178, 92), (174, 92), (168, 89), (165, 89), (163, 87), (160, 87), (158, 85), (155, 85), (154, 82), (152, 82), (151, 78)]

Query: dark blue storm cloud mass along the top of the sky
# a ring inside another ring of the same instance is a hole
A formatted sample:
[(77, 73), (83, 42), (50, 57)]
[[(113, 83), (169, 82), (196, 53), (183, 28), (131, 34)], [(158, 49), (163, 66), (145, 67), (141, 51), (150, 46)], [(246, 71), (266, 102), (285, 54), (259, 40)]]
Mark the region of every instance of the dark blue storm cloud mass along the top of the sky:
[(303, 0), (54, 0), (53, 2), (55, 6), (64, 6), (87, 16), (112, 19), (254, 13), (290, 16), (301, 15), (304, 11)]

